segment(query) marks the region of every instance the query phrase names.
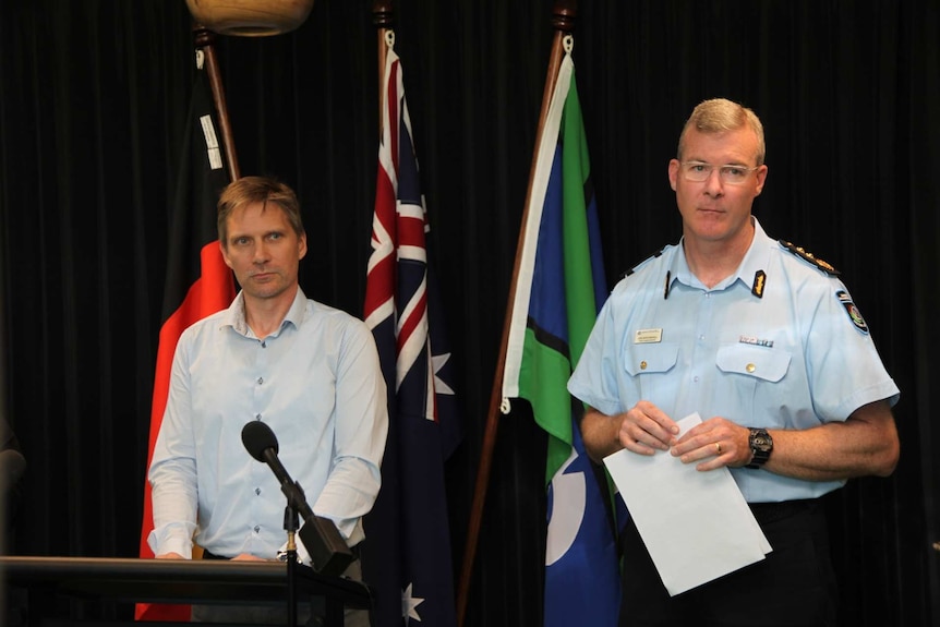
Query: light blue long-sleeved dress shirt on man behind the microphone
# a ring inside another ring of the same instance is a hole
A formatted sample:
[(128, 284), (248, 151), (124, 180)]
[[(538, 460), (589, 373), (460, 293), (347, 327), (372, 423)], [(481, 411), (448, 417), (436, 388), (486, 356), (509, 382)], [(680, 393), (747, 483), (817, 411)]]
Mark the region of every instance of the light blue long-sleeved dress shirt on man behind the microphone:
[[(362, 321), (298, 289), (278, 331), (263, 340), (245, 323), (242, 293), (180, 337), (148, 475), (155, 554), (190, 557), (194, 532), (228, 557), (273, 558), (285, 546), (287, 498), (241, 441), (253, 420), (275, 433), (314, 514), (332, 519), (349, 545), (363, 539), (388, 431), (378, 354)], [(298, 554), (309, 562), (301, 542)]]

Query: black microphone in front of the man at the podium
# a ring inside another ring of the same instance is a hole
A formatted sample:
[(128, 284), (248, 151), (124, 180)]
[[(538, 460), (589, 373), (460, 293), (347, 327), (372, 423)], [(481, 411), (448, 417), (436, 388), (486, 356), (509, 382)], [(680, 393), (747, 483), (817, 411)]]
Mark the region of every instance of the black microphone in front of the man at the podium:
[(333, 520), (316, 516), (310, 508), (303, 489), (290, 478), (277, 456), (279, 447), (274, 432), (267, 424), (252, 421), (242, 427), (241, 441), (253, 458), (270, 467), (288, 504), (303, 518), (298, 534), (310, 553), (313, 569), (334, 577), (341, 575), (353, 560), (352, 552)]

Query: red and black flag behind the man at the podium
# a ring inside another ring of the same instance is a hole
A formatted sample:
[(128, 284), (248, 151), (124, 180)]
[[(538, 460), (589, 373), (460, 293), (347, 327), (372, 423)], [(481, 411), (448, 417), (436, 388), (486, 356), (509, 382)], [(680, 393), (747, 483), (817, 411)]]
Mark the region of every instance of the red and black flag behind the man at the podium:
[[(202, 60), (203, 51), (196, 50), (196, 74), (170, 214), (164, 322), (154, 376), (147, 468), (167, 406), (170, 369), (180, 334), (193, 323), (227, 308), (234, 298), (234, 280), (219, 251), (216, 230), (216, 203), (229, 178), (215, 132), (212, 91)], [(141, 557), (154, 557), (147, 544), (153, 529), (150, 484), (145, 480)], [(136, 618), (189, 622), (190, 606), (141, 603), (136, 606)]]

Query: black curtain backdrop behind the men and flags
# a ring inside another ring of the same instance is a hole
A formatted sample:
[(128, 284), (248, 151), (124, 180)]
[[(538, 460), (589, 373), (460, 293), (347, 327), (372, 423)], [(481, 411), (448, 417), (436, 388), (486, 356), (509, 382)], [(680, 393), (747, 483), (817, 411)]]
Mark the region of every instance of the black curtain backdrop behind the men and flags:
[[(467, 436), (447, 466), (455, 567), (535, 137), (551, 0), (400, 0), (397, 46)], [(301, 285), (360, 314), (377, 154), (370, 0), (220, 37), (241, 172), (294, 186)], [(828, 498), (842, 625), (936, 625), (940, 540), (940, 7), (936, 0), (580, 2), (575, 64), (607, 276), (679, 236), (680, 126), (725, 96), (764, 122), (756, 214), (843, 273), (902, 389), (890, 479)], [(25, 450), (11, 553), (135, 556), (173, 162), (183, 0), (0, 0), (0, 399)], [(832, 376), (839, 376), (837, 372)], [(539, 625), (545, 438), (504, 418), (470, 626)]]

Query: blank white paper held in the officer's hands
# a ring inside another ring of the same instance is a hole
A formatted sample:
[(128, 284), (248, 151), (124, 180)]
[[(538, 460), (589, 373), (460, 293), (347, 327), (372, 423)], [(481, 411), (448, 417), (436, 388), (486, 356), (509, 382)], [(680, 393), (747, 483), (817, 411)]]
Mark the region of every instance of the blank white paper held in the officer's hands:
[[(678, 421), (679, 435), (701, 423)], [(727, 468), (700, 472), (668, 451), (619, 450), (604, 463), (671, 596), (772, 551)]]

